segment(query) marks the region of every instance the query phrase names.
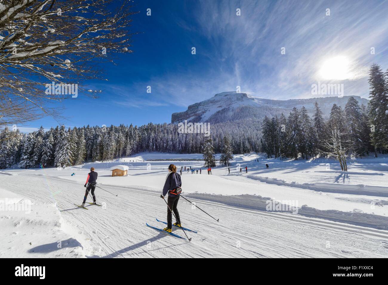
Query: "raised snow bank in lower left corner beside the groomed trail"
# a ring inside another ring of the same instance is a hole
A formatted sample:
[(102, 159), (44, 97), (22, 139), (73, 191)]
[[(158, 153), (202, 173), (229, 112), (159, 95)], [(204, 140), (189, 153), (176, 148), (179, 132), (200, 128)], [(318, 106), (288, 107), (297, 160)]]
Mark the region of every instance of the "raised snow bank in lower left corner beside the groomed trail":
[(0, 258), (85, 257), (63, 226), (56, 203), (37, 204), (0, 189)]

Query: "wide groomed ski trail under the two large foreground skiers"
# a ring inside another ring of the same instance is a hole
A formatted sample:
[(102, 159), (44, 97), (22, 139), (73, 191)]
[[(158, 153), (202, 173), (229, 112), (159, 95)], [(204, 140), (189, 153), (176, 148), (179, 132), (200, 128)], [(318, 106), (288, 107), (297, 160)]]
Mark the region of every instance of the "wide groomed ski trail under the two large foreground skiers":
[[(217, 223), (180, 198), (182, 225), (198, 231), (187, 232), (192, 237), (188, 242), (145, 225), (165, 226), (155, 220), (166, 221), (159, 192), (101, 185), (118, 197), (96, 188), (97, 201), (106, 204), (87, 205), (85, 210), (73, 205), (81, 203), (85, 192), (76, 182), (33, 174), (3, 175), (0, 182), (4, 189), (33, 201), (56, 202), (65, 229), (90, 258), (388, 257), (388, 232), (383, 230), (193, 199), (219, 218)], [(184, 237), (180, 229), (173, 232)]]

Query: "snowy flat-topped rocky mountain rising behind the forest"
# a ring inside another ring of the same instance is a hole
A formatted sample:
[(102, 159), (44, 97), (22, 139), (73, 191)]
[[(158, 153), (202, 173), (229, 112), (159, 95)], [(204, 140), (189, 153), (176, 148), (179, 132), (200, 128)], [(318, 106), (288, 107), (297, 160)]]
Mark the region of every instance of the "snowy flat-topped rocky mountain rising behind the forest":
[[(298, 109), (305, 106), (308, 113), (314, 113), (315, 101), (318, 102), (322, 112), (329, 116), (333, 104), (345, 107), (346, 102), (352, 96), (337, 96), (291, 99), (291, 100), (270, 100), (248, 95), (246, 93), (222, 92), (215, 94), (213, 98), (190, 105), (185, 112), (173, 113), (171, 123), (176, 124), (184, 120), (191, 122), (225, 122), (239, 120), (241, 118), (257, 118), (262, 120), (265, 116), (288, 115), (293, 107)], [(369, 100), (353, 96), (359, 104), (366, 105)]]

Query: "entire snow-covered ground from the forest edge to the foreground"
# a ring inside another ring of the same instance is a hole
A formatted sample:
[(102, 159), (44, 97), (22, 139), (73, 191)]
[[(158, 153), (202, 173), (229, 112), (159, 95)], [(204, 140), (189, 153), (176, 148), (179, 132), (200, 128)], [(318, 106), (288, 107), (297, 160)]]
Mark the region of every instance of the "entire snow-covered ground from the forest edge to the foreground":
[[(24, 208), (0, 204), (0, 257), (388, 257), (386, 156), (351, 161), (348, 173), (334, 160), (251, 153), (234, 156), (230, 174), (217, 166), (208, 175), (201, 159), (140, 153), (62, 170), (1, 170), (0, 199)], [(183, 195), (220, 219), (180, 198), (183, 225), (198, 231), (191, 242), (145, 226), (164, 227), (155, 218), (166, 220), (159, 195), (170, 163), (201, 168), (201, 175), (183, 172)], [(128, 175), (111, 177), (114, 165), (127, 165)], [(118, 196), (96, 188), (103, 207), (84, 210), (74, 203), (82, 202), (92, 166), (98, 185)], [(267, 211), (272, 201), (283, 211)]]

